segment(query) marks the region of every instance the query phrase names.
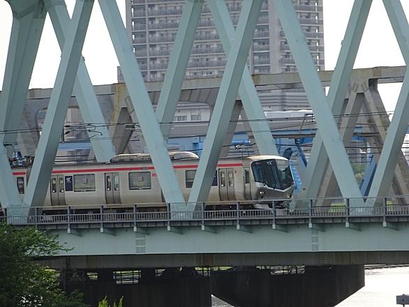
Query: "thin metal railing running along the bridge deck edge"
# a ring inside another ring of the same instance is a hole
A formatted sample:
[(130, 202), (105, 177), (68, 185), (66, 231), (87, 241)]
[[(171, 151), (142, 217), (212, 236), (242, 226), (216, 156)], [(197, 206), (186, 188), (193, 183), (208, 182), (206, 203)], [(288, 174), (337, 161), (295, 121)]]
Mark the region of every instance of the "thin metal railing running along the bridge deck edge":
[[(146, 204), (130, 206), (87, 205), (68, 207), (33, 207), (29, 216), (7, 216), (0, 211), (0, 221), (15, 225), (32, 225), (39, 229), (80, 230), (89, 228), (129, 228), (135, 232), (151, 227), (206, 227), (272, 225), (278, 229), (285, 225), (344, 223), (345, 227), (359, 223), (382, 223), (384, 227), (409, 221), (409, 204), (400, 201), (407, 195), (382, 197), (375, 200), (375, 207), (352, 207), (352, 199), (316, 198), (296, 200), (297, 207), (283, 208), (288, 200), (265, 200), (269, 209), (253, 209), (257, 202), (203, 202), (201, 209), (191, 211), (170, 211), (170, 204), (156, 204), (155, 211), (149, 211)], [(366, 200), (367, 201), (367, 200)], [(373, 201), (373, 200), (372, 200)], [(300, 206), (302, 204), (302, 206)], [(325, 205), (318, 205), (325, 204)], [(207, 208), (223, 208), (212, 209)], [(143, 211), (142, 211), (143, 210)]]

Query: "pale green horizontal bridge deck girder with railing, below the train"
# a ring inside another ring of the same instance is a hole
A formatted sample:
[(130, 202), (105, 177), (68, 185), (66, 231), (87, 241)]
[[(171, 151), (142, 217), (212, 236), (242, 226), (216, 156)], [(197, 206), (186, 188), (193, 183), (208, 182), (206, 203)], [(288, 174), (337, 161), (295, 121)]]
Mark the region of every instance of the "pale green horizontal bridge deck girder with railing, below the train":
[(89, 213), (69, 208), (50, 215), (34, 208), (28, 218), (0, 220), (58, 234), (72, 250), (47, 260), (52, 267), (409, 263), (409, 205), (345, 204), (194, 213), (96, 206)]

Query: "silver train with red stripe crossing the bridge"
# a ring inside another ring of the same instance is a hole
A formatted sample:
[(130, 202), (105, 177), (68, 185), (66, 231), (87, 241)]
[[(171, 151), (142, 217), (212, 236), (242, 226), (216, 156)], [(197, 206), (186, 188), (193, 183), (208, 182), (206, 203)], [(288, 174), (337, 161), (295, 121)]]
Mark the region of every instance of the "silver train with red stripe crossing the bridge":
[[(199, 158), (195, 153), (170, 153), (177, 184), (188, 200)], [(31, 167), (13, 169), (20, 196), (24, 197)], [(208, 202), (288, 199), (294, 181), (287, 159), (280, 156), (249, 156), (218, 161)], [(124, 154), (110, 163), (55, 165), (45, 206), (87, 204), (138, 204), (145, 210), (165, 207), (161, 187), (150, 156)], [(257, 207), (257, 205), (255, 206)]]

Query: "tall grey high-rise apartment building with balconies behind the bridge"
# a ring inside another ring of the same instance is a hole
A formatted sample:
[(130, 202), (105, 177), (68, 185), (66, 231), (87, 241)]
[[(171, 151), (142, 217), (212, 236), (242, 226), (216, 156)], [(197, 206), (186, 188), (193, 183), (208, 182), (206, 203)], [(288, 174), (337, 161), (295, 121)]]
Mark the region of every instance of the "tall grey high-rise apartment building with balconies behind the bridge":
[[(232, 22), (237, 24), (243, 0), (220, 1), (225, 1)], [(292, 0), (292, 2), (306, 34), (315, 64), (318, 69), (323, 69), (322, 0)], [(180, 0), (126, 0), (126, 27), (135, 57), (147, 81), (163, 80), (165, 76), (183, 6), (184, 1)], [(212, 22), (210, 10), (205, 4), (186, 77), (221, 76), (225, 63), (225, 52)], [(266, 0), (262, 3), (248, 57), (248, 66), (251, 73), (281, 73), (296, 69), (272, 1)]]

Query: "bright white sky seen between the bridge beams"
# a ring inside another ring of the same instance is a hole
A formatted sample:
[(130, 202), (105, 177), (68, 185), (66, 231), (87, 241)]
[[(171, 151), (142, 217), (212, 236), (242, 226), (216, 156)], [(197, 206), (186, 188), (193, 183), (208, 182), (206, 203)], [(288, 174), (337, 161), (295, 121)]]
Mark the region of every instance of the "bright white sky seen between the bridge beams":
[[(345, 28), (348, 24), (353, 0), (323, 1), (325, 69), (332, 70), (336, 65), (336, 59), (338, 58)], [(71, 13), (75, 5), (75, 0), (66, 0), (66, 3)], [(117, 0), (117, 3), (124, 19), (125, 0)], [(402, 0), (401, 3), (406, 14), (409, 15), (409, 0)], [(12, 15), (10, 7), (6, 1), (0, 0), (0, 84), (3, 84), (11, 23)], [(118, 61), (107, 29), (103, 25), (101, 10), (98, 6), (98, 1), (96, 1), (82, 51), (94, 85), (117, 82)], [(60, 56), (61, 52), (57, 44), (57, 38), (52, 29), (50, 19), (47, 17), (30, 88), (53, 87)], [(405, 63), (382, 1), (373, 0), (371, 13), (369, 20), (366, 22), (364, 36), (354, 67), (368, 68), (401, 65), (405, 65)], [(387, 111), (394, 110), (400, 87), (401, 84), (380, 85), (380, 94), (384, 100)]]

